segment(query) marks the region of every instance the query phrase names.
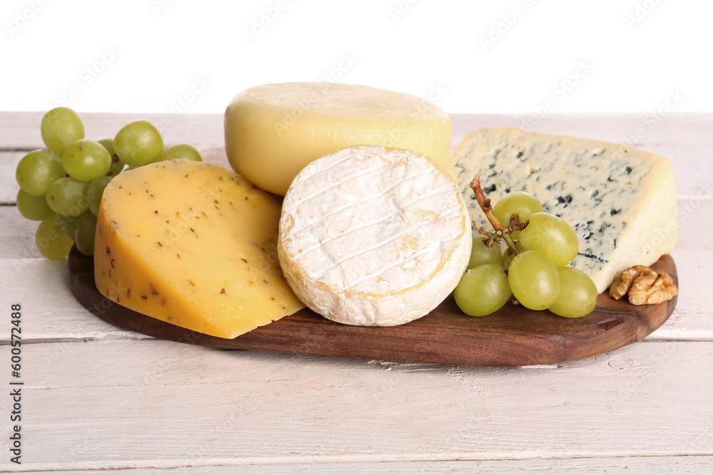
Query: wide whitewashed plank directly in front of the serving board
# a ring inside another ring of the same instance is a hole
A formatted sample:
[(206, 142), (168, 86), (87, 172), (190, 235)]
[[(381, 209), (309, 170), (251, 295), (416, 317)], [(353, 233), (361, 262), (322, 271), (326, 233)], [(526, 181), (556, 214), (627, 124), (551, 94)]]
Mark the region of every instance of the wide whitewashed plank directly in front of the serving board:
[(713, 453), (707, 342), (519, 369), (146, 340), (23, 348), (25, 470)]

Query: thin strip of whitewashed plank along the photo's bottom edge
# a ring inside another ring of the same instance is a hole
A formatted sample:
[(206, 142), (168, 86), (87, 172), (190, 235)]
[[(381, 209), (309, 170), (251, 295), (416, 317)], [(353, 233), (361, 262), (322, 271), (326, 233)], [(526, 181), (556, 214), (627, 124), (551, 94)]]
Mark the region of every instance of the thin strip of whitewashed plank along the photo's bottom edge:
[[(477, 473), (485, 475), (511, 473), (571, 475), (626, 473), (703, 474), (713, 470), (712, 456), (618, 457), (609, 459), (548, 459), (548, 460), (478, 460), (478, 461), (395, 461), (360, 464), (286, 464), (240, 466), (240, 475), (292, 474), (443, 474)], [(172, 469), (124, 469), (121, 475), (235, 475), (236, 466), (190, 466)], [(62, 471), (63, 475), (86, 475), (88, 471)], [(34, 475), (56, 475), (56, 471), (33, 471)]]

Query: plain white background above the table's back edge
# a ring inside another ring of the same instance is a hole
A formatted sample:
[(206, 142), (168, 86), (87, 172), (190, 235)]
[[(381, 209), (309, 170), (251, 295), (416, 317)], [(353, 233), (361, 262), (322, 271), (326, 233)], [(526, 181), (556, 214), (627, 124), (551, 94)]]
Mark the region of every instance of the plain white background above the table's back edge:
[(0, 110), (222, 113), (334, 80), (449, 113), (713, 111), (712, 19), (709, 0), (2, 0)]

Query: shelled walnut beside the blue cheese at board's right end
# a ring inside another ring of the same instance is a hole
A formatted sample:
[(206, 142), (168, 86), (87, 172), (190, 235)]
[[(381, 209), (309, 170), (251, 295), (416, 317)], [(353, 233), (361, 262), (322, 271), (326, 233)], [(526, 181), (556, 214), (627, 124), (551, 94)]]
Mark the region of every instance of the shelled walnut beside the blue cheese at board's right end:
[(649, 305), (678, 295), (678, 288), (665, 272), (659, 275), (647, 266), (632, 266), (616, 276), (609, 288), (609, 295), (616, 300), (627, 293), (633, 305)]

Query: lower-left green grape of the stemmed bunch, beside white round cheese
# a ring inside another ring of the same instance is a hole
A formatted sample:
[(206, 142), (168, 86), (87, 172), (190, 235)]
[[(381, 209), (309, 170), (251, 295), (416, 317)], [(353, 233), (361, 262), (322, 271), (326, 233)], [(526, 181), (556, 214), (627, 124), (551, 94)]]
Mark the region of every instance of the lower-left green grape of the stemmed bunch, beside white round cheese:
[(500, 264), (493, 263), (468, 269), (453, 291), (458, 307), (471, 317), (500, 310), (510, 296), (508, 276)]

